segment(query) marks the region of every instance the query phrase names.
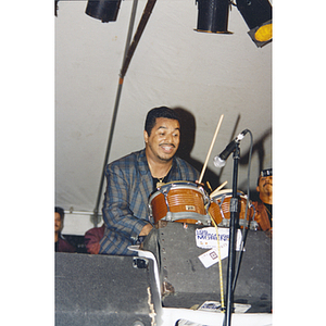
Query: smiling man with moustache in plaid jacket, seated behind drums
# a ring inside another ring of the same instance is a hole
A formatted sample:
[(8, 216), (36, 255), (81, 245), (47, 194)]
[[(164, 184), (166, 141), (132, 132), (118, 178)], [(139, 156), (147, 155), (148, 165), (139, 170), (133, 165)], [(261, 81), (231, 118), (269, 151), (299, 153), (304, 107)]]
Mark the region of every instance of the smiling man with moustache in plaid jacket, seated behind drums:
[(150, 195), (162, 183), (195, 181), (198, 171), (175, 156), (180, 140), (178, 115), (166, 106), (150, 110), (146, 117), (145, 149), (106, 166), (103, 203), (104, 237), (100, 253), (133, 255), (127, 249), (139, 243), (152, 229)]

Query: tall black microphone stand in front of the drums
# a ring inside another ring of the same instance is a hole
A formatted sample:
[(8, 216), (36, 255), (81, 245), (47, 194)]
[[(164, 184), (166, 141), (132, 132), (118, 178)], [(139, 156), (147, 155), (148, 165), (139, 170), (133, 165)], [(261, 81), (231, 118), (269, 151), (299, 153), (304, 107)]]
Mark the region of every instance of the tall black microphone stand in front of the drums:
[(234, 152), (234, 174), (233, 174), (233, 197), (230, 199), (230, 224), (229, 224), (229, 246), (226, 279), (226, 310), (223, 326), (230, 326), (231, 314), (234, 311), (234, 277), (236, 262), (236, 226), (238, 224), (238, 165), (240, 159), (239, 142), (236, 143)]

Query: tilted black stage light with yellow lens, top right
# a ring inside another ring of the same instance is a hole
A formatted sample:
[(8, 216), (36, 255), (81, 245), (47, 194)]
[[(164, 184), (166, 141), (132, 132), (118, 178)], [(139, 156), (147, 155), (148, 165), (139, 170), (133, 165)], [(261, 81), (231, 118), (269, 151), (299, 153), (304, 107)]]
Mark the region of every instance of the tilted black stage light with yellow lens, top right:
[(261, 48), (272, 41), (272, 5), (268, 0), (237, 0), (237, 8), (247, 23), (254, 43)]

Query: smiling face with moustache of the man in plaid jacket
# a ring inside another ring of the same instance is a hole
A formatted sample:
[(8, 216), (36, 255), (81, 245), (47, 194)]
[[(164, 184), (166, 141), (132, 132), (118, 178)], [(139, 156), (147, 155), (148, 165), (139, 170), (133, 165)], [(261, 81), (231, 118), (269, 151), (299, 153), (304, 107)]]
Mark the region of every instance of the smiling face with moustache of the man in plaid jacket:
[(143, 131), (147, 153), (152, 160), (168, 162), (180, 142), (180, 125), (177, 120), (158, 117), (151, 135)]

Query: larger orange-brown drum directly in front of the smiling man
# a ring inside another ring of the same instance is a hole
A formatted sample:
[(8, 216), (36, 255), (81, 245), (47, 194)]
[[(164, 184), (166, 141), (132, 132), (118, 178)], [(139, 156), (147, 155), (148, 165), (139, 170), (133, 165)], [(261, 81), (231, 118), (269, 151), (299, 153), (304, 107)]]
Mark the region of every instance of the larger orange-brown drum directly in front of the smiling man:
[(206, 213), (209, 197), (195, 183), (172, 181), (163, 185), (149, 199), (150, 215), (160, 220), (189, 224), (210, 224)]

